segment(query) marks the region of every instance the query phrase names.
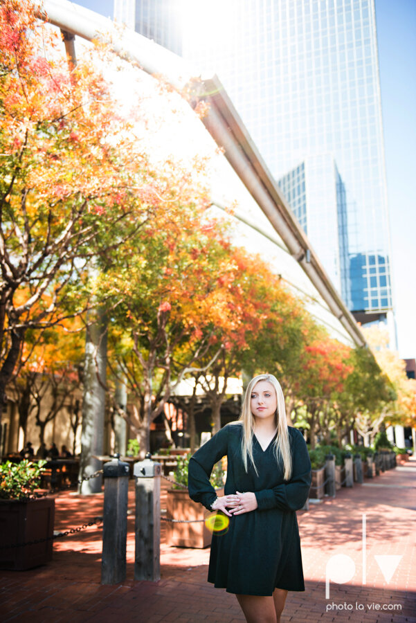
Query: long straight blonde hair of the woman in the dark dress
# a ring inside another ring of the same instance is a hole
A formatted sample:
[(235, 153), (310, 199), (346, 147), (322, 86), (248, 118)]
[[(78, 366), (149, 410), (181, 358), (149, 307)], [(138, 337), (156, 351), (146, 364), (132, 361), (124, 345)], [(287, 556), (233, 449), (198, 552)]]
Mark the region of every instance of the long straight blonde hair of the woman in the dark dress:
[(284, 404), (284, 396), (280, 383), (278, 379), (273, 376), (273, 374), (259, 374), (257, 377), (251, 379), (248, 383), (246, 394), (244, 395), (242, 411), (238, 419), (238, 422), (241, 422), (243, 427), (242, 458), (244, 468), (248, 471), (248, 458), (250, 458), (255, 469), (255, 473), (258, 476), (257, 467), (255, 467), (253, 458), (253, 432), (255, 419), (253, 413), (251, 413), (251, 392), (253, 392), (255, 385), (259, 381), (269, 381), (269, 383), (271, 383), (275, 388), (276, 397), (278, 399), (278, 408), (275, 415), (278, 434), (273, 445), (276, 461), (278, 464), (283, 464), (284, 480), (289, 480), (292, 473), (292, 460), (289, 445), (289, 433), (287, 431), (286, 406)]

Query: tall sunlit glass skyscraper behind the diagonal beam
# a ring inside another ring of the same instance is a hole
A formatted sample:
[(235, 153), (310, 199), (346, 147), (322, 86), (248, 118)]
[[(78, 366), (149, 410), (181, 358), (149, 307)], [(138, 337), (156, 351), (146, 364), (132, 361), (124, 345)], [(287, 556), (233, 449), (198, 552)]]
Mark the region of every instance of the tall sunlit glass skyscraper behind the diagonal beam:
[[(154, 17), (162, 4), (136, 0)], [(374, 0), (176, 6), (182, 55), (219, 75), (347, 305), (362, 322), (386, 314), (390, 240)], [(137, 21), (136, 30), (146, 35)]]

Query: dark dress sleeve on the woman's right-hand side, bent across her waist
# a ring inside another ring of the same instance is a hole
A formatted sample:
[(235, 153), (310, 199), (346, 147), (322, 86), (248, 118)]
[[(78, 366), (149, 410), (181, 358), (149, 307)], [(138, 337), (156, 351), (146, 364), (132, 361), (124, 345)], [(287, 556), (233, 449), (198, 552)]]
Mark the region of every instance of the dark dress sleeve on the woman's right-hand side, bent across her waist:
[(255, 491), (260, 510), (278, 508), (283, 511), (296, 511), (305, 504), (311, 487), (311, 460), (305, 440), (300, 431), (296, 431), (292, 449), (292, 476), (288, 482)]

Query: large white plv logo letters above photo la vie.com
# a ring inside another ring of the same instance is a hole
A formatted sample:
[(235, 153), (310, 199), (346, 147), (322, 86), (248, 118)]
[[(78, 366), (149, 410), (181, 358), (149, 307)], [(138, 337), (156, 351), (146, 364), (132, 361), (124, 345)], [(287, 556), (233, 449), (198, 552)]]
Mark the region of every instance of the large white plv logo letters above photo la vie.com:
[[(367, 554), (365, 545), (367, 541), (367, 516), (363, 514), (363, 578), (362, 585), (367, 584)], [(392, 579), (403, 554), (380, 554), (374, 556), (386, 582)], [(325, 568), (325, 599), (329, 599), (329, 582), (345, 584), (355, 575), (355, 563), (347, 554), (334, 554), (328, 561)]]

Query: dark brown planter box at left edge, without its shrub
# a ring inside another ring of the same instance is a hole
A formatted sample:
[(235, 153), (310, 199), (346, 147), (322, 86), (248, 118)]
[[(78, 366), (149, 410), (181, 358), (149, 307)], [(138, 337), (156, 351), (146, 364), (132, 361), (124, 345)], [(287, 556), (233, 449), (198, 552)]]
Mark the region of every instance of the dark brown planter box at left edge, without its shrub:
[[(55, 500), (0, 500), (0, 548), (29, 543), (53, 536)], [(0, 549), (0, 569), (23, 571), (44, 565), (52, 559), (53, 540)]]

